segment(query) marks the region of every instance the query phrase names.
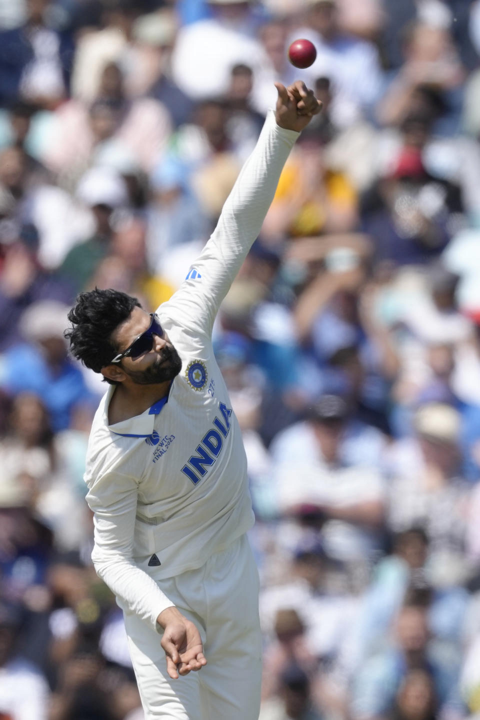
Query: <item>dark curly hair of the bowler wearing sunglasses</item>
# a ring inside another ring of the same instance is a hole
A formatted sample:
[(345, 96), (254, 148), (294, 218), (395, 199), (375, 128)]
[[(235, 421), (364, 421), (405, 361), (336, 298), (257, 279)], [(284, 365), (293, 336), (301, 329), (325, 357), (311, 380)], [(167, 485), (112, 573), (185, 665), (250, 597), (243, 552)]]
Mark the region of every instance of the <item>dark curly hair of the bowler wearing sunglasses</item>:
[[(113, 331), (127, 320), (134, 307), (142, 307), (137, 298), (118, 290), (96, 287), (90, 292), (81, 292), (68, 313), (71, 328), (64, 333), (70, 340), (71, 354), (86, 367), (100, 372), (118, 353), (110, 339)], [(112, 385), (118, 384), (105, 379)]]

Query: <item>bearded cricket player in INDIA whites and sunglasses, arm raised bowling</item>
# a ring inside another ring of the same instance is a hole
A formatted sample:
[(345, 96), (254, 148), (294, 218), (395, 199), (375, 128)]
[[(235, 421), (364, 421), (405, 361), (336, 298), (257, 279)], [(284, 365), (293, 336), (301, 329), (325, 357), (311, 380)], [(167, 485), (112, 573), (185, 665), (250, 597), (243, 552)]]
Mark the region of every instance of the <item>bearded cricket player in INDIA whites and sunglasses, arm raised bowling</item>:
[(127, 294), (95, 289), (68, 315), (71, 352), (110, 386), (86, 462), (92, 559), (123, 610), (148, 720), (258, 720), (258, 572), (245, 535), (254, 518), (211, 337), (291, 147), (320, 112), (302, 82), (276, 88), (276, 110), (171, 300), (149, 315)]

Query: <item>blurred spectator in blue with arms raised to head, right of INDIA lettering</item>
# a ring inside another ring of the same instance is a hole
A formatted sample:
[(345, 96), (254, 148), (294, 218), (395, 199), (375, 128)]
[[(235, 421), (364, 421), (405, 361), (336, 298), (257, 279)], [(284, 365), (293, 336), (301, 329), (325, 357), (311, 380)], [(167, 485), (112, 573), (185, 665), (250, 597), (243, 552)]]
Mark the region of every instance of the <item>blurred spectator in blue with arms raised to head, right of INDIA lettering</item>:
[(294, 318), (310, 392), (343, 394), (359, 417), (389, 433), (387, 397), (398, 359), (373, 309), (378, 287), (367, 279), (368, 237), (299, 240), (289, 255), (307, 264)]

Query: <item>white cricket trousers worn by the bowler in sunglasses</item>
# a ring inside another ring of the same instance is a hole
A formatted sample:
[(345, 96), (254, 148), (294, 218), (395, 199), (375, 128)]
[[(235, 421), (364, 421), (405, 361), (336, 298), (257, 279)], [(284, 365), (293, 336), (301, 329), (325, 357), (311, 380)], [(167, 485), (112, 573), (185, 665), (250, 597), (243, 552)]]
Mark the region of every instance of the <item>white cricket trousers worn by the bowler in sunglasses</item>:
[(171, 680), (161, 635), (133, 613), (124, 613), (145, 720), (258, 720), (258, 570), (247, 536), (209, 557), (198, 570), (158, 584), (196, 624), (207, 665)]

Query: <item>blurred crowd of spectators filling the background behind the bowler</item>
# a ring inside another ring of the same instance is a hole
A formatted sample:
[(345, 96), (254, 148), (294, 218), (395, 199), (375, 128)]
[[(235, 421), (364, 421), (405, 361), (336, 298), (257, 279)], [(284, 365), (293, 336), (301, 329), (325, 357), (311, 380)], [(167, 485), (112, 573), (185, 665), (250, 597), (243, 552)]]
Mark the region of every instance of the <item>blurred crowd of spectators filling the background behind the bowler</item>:
[(214, 328), (261, 720), (480, 714), (480, 1), (0, 0), (1, 720), (144, 717), (66, 312), (168, 300), (296, 78), (324, 109)]

